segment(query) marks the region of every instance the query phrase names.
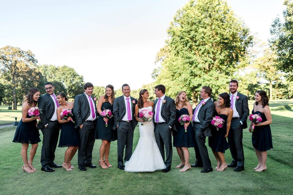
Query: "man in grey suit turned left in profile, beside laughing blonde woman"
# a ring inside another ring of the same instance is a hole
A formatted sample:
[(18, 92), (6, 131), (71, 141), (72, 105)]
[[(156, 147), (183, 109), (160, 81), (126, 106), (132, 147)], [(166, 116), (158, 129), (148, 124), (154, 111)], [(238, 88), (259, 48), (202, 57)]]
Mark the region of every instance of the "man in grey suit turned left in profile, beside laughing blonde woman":
[(195, 157), (196, 162), (192, 167), (201, 167), (204, 169), (202, 173), (213, 171), (211, 161), (208, 157), (208, 149), (205, 146), (205, 138), (212, 136), (211, 121), (215, 112), (215, 104), (211, 99), (212, 89), (210, 87), (201, 88), (201, 102), (194, 109), (192, 117), (192, 128), (195, 134), (196, 147)]

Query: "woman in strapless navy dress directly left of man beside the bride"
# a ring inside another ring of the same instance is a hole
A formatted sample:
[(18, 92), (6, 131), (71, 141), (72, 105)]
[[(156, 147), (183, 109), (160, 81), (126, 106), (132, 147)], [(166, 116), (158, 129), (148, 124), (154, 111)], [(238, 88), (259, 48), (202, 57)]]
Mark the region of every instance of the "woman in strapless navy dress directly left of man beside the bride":
[[(102, 140), (99, 165), (106, 169), (112, 167), (109, 163), (109, 152), (111, 141), (115, 141), (114, 130), (112, 129), (114, 125), (114, 117), (108, 119), (107, 117), (101, 116), (101, 113), (104, 109), (110, 109), (113, 114), (114, 99), (114, 87), (112, 85), (107, 85), (105, 94), (99, 98), (97, 106), (99, 116), (97, 120), (95, 139)], [(108, 127), (106, 127), (106, 122), (108, 123)]]

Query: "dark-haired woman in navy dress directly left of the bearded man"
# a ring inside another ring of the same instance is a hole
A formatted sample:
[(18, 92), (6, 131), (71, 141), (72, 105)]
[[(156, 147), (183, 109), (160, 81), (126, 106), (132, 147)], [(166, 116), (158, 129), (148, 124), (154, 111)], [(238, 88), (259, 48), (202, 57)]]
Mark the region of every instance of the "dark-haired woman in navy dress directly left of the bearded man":
[(217, 159), (217, 167), (215, 170), (224, 171), (227, 168), (224, 153), (229, 148), (229, 144), (226, 140), (230, 130), (231, 119), (233, 116), (233, 109), (230, 108), (230, 96), (227, 93), (219, 94), (218, 101), (215, 101), (215, 115), (225, 120), (222, 128), (217, 130), (212, 128), (212, 137), (208, 137), (208, 145), (212, 148), (212, 151)]

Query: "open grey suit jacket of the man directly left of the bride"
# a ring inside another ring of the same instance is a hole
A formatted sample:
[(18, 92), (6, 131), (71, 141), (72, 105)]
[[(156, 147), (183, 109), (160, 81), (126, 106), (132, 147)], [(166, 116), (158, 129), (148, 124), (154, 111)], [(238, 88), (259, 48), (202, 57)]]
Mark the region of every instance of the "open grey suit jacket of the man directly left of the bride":
[[(137, 121), (134, 116), (134, 107), (137, 104), (137, 99), (130, 97), (131, 102), (131, 110), (132, 110), (132, 128), (135, 129), (135, 126), (137, 125)], [(135, 104), (132, 103), (132, 101), (135, 101)], [(126, 107), (125, 107), (125, 101), (123, 95), (115, 98), (113, 103), (113, 115), (114, 115), (114, 126), (113, 129), (116, 129), (117, 125), (120, 125), (120, 122), (122, 121), (124, 115), (126, 113)]]

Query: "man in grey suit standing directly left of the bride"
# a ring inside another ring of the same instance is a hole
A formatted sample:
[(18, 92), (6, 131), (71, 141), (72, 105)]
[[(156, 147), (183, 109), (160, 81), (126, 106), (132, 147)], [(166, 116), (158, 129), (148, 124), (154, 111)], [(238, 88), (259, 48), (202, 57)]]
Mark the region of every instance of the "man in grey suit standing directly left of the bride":
[(132, 155), (133, 132), (137, 121), (134, 118), (134, 107), (137, 99), (130, 97), (130, 87), (128, 84), (122, 85), (123, 95), (115, 98), (113, 104), (114, 126), (117, 128), (117, 156), (118, 168), (124, 170), (123, 153), (125, 148), (124, 161), (129, 161)]

